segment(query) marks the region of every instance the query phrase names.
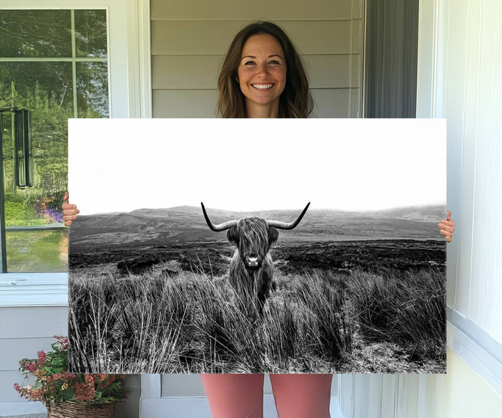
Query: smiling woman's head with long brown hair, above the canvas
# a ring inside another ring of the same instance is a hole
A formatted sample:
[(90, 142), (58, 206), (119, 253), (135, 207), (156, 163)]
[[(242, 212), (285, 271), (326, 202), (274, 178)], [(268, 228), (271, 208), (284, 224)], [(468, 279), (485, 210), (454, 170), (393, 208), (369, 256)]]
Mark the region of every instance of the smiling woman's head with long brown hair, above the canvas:
[(232, 41), (218, 77), (224, 118), (308, 117), (308, 78), (287, 34), (271, 22), (249, 24)]

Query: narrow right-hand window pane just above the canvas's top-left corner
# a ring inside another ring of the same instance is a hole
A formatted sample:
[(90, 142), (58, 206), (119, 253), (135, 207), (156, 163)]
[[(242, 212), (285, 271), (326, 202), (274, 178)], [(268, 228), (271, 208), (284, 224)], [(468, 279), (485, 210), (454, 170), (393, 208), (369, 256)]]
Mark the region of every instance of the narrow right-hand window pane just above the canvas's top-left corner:
[(78, 117), (108, 117), (108, 72), (105, 62), (77, 62)]

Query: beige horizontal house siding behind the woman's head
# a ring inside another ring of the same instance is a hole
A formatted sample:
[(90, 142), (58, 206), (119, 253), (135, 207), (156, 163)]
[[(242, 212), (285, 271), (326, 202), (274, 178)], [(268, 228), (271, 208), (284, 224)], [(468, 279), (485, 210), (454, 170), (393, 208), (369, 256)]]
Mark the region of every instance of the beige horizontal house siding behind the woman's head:
[(301, 52), (314, 117), (359, 117), (362, 0), (151, 1), (153, 117), (215, 117), (216, 79), (233, 36), (272, 20)]

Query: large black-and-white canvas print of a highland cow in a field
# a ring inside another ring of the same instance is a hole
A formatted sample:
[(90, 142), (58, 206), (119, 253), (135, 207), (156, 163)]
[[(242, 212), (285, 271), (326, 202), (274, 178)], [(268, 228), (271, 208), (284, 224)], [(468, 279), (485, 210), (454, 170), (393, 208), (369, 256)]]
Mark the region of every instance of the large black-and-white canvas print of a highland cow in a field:
[(69, 367), (446, 373), (446, 121), (70, 119)]

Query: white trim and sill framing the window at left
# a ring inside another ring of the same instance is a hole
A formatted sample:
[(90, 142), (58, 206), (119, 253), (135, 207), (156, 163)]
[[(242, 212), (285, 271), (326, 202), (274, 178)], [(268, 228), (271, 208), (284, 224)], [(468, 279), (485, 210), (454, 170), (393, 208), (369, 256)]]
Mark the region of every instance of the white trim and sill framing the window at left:
[[(4, 10), (71, 8), (107, 10), (110, 117), (150, 118), (149, 0), (18, 0), (0, 3), (0, 9)], [(67, 305), (66, 273), (0, 274), (0, 306)]]

